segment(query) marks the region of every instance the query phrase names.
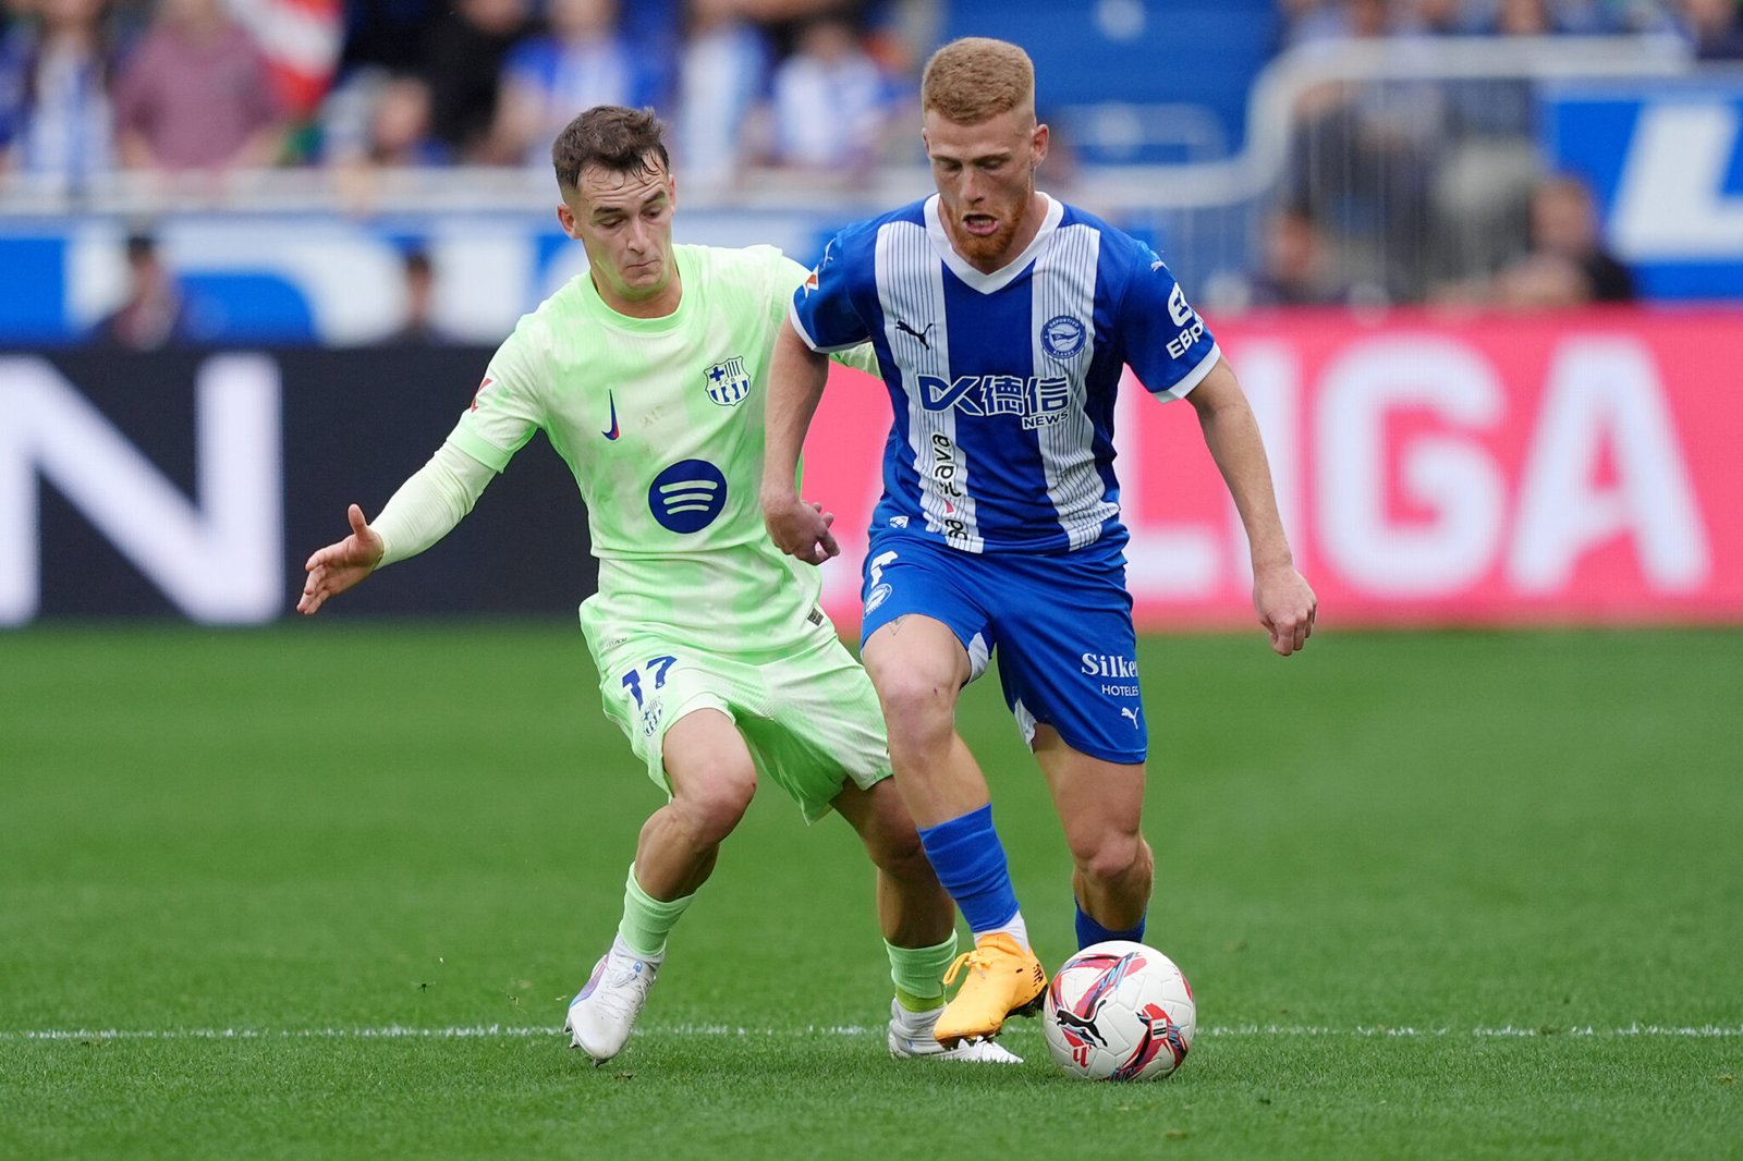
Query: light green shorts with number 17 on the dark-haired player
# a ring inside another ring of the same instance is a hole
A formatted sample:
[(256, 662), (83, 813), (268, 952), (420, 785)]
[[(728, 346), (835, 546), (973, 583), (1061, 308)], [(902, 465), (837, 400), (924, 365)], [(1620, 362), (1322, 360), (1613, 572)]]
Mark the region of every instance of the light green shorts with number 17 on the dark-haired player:
[(668, 795), (666, 730), (704, 708), (732, 718), (758, 779), (791, 795), (807, 823), (828, 814), (849, 781), (866, 790), (889, 777), (877, 690), (828, 621), (807, 635), (802, 652), (774, 661), (680, 645), (647, 624), (587, 628), (605, 716)]

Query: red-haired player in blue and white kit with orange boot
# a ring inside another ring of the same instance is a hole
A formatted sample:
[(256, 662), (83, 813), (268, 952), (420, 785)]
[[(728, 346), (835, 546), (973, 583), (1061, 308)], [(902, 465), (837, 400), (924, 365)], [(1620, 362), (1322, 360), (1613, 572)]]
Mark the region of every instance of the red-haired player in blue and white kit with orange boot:
[(1075, 863), (1079, 947), (1140, 940), (1154, 858), (1140, 828), (1147, 727), (1114, 476), (1126, 366), (1189, 399), (1251, 549), (1276, 652), (1312, 631), (1251, 408), (1149, 246), (1035, 190), (1048, 127), (1020, 47), (967, 38), (922, 80), (938, 194), (847, 227), (793, 295), (769, 378), (763, 514), (809, 563), (838, 551), (793, 467), (824, 356), (872, 342), (894, 404), (865, 563), (863, 659), (896, 784), (974, 933), (939, 1042), (1032, 1011), (1046, 974), (1011, 889), (987, 777), (955, 730), (997, 654), (1006, 703), (1048, 779)]

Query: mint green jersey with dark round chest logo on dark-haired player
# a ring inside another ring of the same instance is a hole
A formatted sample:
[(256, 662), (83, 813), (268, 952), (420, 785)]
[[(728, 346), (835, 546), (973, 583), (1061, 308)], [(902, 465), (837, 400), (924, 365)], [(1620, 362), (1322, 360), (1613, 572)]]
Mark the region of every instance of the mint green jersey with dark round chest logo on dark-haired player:
[(683, 293), (661, 319), (617, 314), (586, 274), (551, 295), (450, 441), (500, 472), (544, 431), (568, 462), (600, 558), (584, 624), (779, 655), (821, 615), (817, 570), (769, 540), (758, 497), (769, 357), (809, 272), (772, 246), (676, 246), (675, 261)]

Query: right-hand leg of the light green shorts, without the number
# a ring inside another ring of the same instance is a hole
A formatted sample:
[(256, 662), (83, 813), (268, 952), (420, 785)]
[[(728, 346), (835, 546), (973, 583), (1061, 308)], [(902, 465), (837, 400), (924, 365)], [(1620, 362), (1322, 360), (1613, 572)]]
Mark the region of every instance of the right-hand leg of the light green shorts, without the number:
[(889, 777), (889, 743), (865, 668), (828, 636), (762, 668), (767, 716), (739, 716), (763, 774), (816, 821), (847, 786)]

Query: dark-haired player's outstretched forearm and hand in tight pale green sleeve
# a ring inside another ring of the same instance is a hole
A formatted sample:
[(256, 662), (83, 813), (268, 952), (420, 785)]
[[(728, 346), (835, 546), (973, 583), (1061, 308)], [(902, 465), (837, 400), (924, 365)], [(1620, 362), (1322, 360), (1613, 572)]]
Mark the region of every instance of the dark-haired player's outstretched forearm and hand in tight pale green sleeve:
[(347, 513), (350, 535), (315, 551), (303, 565), (309, 579), (296, 612), (312, 617), (329, 596), (356, 587), (382, 565), (417, 556), (441, 540), (472, 511), (493, 476), (490, 467), (444, 443), (399, 486), (375, 526), (352, 504)]

